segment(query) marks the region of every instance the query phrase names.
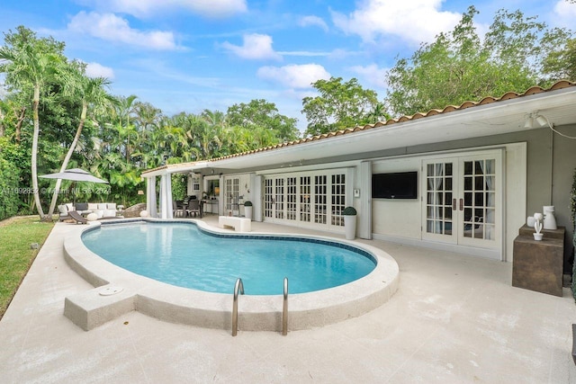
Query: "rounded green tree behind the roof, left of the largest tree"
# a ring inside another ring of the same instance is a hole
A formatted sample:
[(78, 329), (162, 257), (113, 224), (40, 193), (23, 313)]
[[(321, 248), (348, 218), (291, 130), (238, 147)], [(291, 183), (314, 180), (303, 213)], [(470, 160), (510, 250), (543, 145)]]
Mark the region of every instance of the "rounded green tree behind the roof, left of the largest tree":
[(342, 82), (342, 77), (330, 77), (312, 84), (320, 93), (304, 97), (302, 113), (308, 121), (307, 135), (319, 135), (355, 127), (369, 121), (368, 115), (378, 103), (378, 95), (358, 84), (356, 78)]

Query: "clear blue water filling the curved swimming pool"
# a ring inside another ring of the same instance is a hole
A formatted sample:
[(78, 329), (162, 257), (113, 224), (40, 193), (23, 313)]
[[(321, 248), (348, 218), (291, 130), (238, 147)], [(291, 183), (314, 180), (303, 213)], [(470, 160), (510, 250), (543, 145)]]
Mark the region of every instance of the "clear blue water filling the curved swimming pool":
[(374, 256), (319, 239), (212, 235), (193, 223), (134, 222), (84, 233), (88, 249), (121, 268), (180, 287), (247, 295), (324, 290), (372, 272)]

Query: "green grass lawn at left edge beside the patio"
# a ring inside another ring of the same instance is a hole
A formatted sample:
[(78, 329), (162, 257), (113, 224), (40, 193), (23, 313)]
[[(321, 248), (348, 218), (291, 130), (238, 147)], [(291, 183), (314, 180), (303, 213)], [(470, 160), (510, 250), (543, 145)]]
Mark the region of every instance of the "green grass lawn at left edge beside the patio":
[(38, 255), (31, 244), (42, 246), (53, 227), (38, 216), (0, 221), (0, 318)]

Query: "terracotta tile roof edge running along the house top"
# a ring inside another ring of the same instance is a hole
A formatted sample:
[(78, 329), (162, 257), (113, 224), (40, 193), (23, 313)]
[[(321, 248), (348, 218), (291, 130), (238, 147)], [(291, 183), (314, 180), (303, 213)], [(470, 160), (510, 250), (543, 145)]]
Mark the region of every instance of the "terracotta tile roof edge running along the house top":
[[(472, 108), (472, 107), (476, 107), (476, 106), (480, 106), (480, 105), (498, 103), (498, 102), (503, 102), (503, 101), (511, 100), (511, 99), (518, 99), (520, 97), (530, 96), (533, 94), (543, 94), (545, 92), (556, 91), (556, 90), (568, 88), (571, 86), (576, 86), (576, 82), (572, 82), (572, 81), (568, 81), (568, 80), (560, 80), (548, 88), (542, 88), (541, 86), (535, 85), (535, 86), (528, 88), (527, 91), (522, 93), (522, 94), (518, 94), (516, 92), (507, 92), (506, 94), (502, 94), (500, 97), (487, 96), (487, 97), (484, 97), (480, 102), (464, 102), (460, 105), (447, 105), (445, 108), (443, 108), (441, 110), (433, 109), (433, 110), (430, 110), (426, 113), (418, 112), (418, 113), (415, 113), (411, 116), (401, 116), (397, 119), (389, 119), (387, 121), (378, 121), (374, 124), (366, 124), (365, 126), (356, 126), (353, 128), (341, 129), (341, 130), (338, 130), (335, 132), (323, 133), (321, 135), (312, 136), (310, 138), (300, 138), (298, 140), (286, 141), (284, 143), (276, 144), (274, 146), (257, 148), (257, 149), (249, 150), (246, 152), (241, 152), (238, 154), (221, 156), (221, 157), (212, 158), (212, 159), (205, 160), (205, 161), (206, 162), (213, 162), (213, 161), (224, 160), (224, 159), (229, 159), (229, 158), (233, 158), (233, 157), (253, 155), (253, 154), (257, 154), (260, 152), (266, 152), (266, 151), (277, 149), (277, 148), (292, 147), (292, 146), (303, 144), (303, 143), (309, 143), (311, 141), (317, 141), (317, 140), (321, 140), (324, 138), (334, 138), (337, 136), (347, 135), (350, 133), (363, 131), (363, 130), (367, 130), (367, 129), (387, 127), (387, 126), (390, 126), (392, 124), (396, 124), (398, 122), (415, 121), (418, 119), (427, 118), (430, 116), (436, 116), (439, 114), (455, 112), (455, 111), (463, 111), (467, 108)], [(194, 163), (189, 163), (189, 164), (193, 165)], [(182, 166), (182, 165), (183, 164), (178, 164), (178, 166)], [(154, 169), (149, 169), (149, 170), (145, 171), (145, 173), (157, 171), (160, 169), (167, 169), (169, 167), (170, 167), (170, 165), (163, 165), (163, 166), (159, 166), (159, 167), (154, 168)]]

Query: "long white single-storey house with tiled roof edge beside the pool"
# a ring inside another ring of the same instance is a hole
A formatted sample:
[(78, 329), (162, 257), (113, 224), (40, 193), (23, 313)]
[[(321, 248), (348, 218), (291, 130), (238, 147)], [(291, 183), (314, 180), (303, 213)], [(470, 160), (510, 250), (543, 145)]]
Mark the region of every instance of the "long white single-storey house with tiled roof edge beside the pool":
[(510, 262), (518, 228), (544, 205), (572, 238), (568, 137), (576, 83), (560, 81), (142, 176), (148, 212), (161, 218), (172, 218), (169, 176), (183, 174), (190, 194), (218, 192), (206, 210), (220, 215), (252, 201), (257, 221), (343, 233), (351, 205), (357, 237)]

